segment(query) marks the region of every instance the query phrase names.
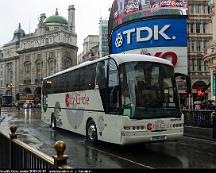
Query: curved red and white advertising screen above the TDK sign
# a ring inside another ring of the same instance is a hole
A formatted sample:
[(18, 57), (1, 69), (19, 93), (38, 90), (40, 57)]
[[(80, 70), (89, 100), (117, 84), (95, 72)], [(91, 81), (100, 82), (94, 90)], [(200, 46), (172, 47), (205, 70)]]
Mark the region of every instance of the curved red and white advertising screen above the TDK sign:
[(132, 20), (162, 15), (187, 15), (188, 0), (115, 0), (110, 12), (109, 28)]

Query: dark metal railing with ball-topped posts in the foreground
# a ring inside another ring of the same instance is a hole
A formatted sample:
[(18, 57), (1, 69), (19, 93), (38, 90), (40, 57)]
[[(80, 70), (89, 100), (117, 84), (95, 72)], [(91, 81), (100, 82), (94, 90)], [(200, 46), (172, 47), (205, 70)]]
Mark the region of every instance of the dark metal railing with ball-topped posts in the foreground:
[(1, 169), (72, 169), (67, 165), (68, 156), (63, 154), (66, 148), (63, 141), (55, 143), (57, 155), (50, 157), (17, 139), (15, 125), (10, 131), (10, 137), (0, 133)]

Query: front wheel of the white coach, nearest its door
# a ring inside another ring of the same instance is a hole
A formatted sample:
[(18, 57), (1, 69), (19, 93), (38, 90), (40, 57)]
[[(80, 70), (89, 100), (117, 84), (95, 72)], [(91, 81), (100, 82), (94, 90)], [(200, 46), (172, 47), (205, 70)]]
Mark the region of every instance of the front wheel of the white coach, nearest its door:
[(87, 141), (89, 141), (91, 143), (96, 143), (98, 140), (97, 127), (96, 127), (95, 122), (93, 120), (90, 120), (87, 122), (86, 138), (87, 138)]

